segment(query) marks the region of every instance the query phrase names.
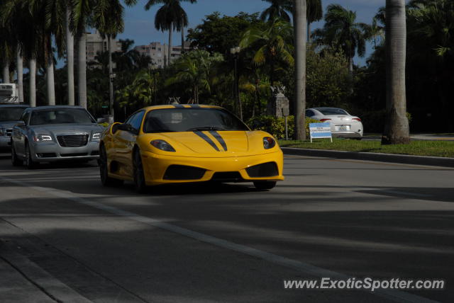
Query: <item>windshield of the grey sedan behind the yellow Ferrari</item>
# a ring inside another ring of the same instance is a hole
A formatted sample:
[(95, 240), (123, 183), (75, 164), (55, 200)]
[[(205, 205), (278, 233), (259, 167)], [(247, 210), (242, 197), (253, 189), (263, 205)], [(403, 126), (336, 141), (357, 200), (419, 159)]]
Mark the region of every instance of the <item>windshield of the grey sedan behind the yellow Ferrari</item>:
[(87, 110), (60, 108), (57, 110), (38, 110), (31, 114), (30, 125), (94, 123)]

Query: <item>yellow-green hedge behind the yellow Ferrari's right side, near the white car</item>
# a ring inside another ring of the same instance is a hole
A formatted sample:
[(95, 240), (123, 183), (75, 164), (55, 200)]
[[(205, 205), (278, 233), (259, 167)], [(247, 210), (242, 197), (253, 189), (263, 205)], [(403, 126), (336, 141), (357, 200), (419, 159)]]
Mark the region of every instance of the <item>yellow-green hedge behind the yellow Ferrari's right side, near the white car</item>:
[[(309, 123), (317, 122), (320, 121), (306, 117), (306, 137), (309, 137)], [(269, 132), (277, 139), (285, 138), (284, 118), (276, 118), (272, 115), (260, 115), (258, 117), (250, 118), (247, 123), (253, 130), (263, 130), (264, 132)], [(287, 127), (289, 138), (293, 138), (295, 133), (294, 116), (290, 115), (287, 117)]]

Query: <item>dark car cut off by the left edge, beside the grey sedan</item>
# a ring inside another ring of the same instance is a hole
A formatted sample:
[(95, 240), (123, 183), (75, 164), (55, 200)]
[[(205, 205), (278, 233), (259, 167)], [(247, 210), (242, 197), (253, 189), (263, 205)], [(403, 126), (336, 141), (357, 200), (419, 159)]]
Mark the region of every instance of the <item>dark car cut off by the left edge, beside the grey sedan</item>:
[(13, 126), (21, 119), (25, 104), (0, 104), (0, 148), (11, 146)]

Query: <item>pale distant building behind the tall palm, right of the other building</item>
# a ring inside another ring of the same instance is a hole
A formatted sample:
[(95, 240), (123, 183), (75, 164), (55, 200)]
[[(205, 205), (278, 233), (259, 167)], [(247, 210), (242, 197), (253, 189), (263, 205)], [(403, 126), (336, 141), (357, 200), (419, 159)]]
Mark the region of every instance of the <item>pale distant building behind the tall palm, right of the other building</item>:
[[(165, 66), (169, 45), (160, 42), (151, 42), (149, 45), (138, 45), (134, 47), (141, 55), (150, 57), (153, 60), (152, 67), (162, 68)], [(184, 42), (184, 51), (191, 50), (190, 42)], [(170, 61), (179, 58), (182, 55), (182, 46), (172, 46)]]

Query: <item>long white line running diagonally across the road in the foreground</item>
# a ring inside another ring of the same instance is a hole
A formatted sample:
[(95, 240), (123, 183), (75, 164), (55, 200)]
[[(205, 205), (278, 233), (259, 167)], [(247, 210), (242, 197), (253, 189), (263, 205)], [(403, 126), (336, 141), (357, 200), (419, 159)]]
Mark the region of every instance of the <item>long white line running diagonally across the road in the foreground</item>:
[[(317, 266), (304, 263), (297, 260), (292, 260), (289, 258), (285, 258), (282, 256), (275, 255), (274, 253), (268, 253), (267, 251), (260, 251), (259, 249), (244, 246), (241, 244), (236, 244), (231, 241), (226, 241), (223, 239), (216, 238), (214, 236), (209, 236), (207, 234), (201, 234), (197, 231), (192, 231), (189, 229), (184, 229), (182, 227), (177, 227), (176, 225), (168, 224), (157, 219), (152, 219), (150, 217), (144, 217), (133, 212), (128, 212), (126, 210), (121, 210), (116, 207), (111, 207), (108, 205), (104, 205), (99, 202), (94, 202), (91, 200), (87, 200), (77, 195), (73, 195), (72, 193), (67, 193), (62, 190), (57, 190), (55, 188), (43, 188), (40, 186), (32, 185), (31, 183), (26, 183), (22, 181), (13, 180), (10, 178), (5, 178), (0, 176), (0, 179), (3, 181), (7, 181), (9, 183), (13, 183), (16, 185), (24, 186), (31, 188), (33, 190), (38, 190), (43, 193), (48, 193), (50, 195), (54, 195), (58, 198), (65, 198), (67, 200), (71, 200), (73, 202), (77, 202), (82, 205), (88, 205), (90, 207), (94, 207), (98, 210), (104, 210), (105, 212), (109, 212), (113, 215), (118, 215), (121, 217), (127, 217), (128, 219), (133, 219), (136, 222), (141, 222), (144, 224), (148, 224), (153, 227), (157, 227), (160, 229), (164, 229), (166, 231), (173, 232), (175, 234), (180, 234), (182, 236), (187, 236), (192, 239), (196, 239), (207, 244), (211, 244), (214, 246), (218, 246), (221, 248), (227, 248), (231, 251), (236, 251), (238, 253), (244, 253), (248, 256), (253, 256), (256, 258), (261, 258), (262, 260), (269, 261), (271, 263), (279, 264), (287, 268), (292, 268), (294, 270), (299, 270), (302, 273), (306, 273), (307, 275), (314, 275), (319, 278), (333, 278), (333, 279), (348, 279), (353, 278), (349, 275), (345, 275), (343, 273), (337, 273), (333, 270), (327, 270), (324, 268), (319, 268)], [(427, 299), (424, 297), (419, 297), (418, 295), (410, 294), (409, 292), (402, 292), (399, 290), (375, 290), (375, 292), (369, 292), (372, 295), (378, 295), (380, 297), (384, 297), (390, 299), (394, 302), (411, 302), (411, 303), (436, 303), (437, 301), (433, 301), (431, 299)]]

